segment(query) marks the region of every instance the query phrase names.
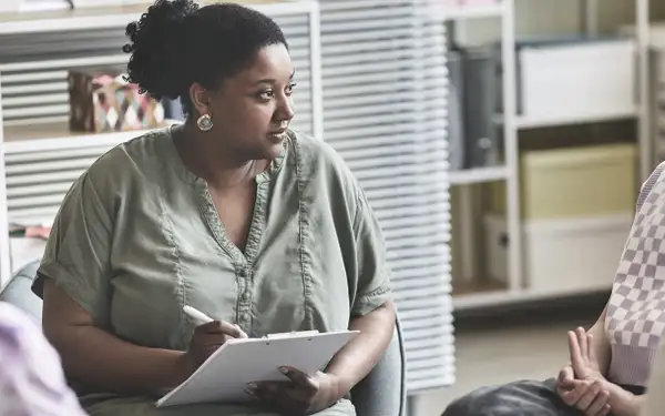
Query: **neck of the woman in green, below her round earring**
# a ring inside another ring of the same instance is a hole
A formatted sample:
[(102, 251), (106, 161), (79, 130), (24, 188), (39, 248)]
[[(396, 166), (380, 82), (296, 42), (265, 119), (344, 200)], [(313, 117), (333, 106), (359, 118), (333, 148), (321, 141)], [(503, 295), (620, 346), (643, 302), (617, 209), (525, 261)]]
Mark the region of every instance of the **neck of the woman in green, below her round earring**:
[(174, 143), (183, 163), (211, 186), (244, 185), (266, 169), (264, 161), (243, 160), (236, 152), (221, 149), (221, 143), (207, 134), (190, 123), (174, 128)]

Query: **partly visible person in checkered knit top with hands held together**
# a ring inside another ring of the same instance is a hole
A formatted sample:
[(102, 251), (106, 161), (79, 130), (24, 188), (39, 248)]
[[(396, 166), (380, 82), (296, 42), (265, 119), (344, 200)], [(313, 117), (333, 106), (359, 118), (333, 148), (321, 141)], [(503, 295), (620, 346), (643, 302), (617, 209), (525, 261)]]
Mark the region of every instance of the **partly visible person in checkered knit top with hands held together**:
[(642, 187), (610, 301), (593, 327), (569, 333), (556, 378), (483, 387), (444, 416), (638, 416), (665, 329), (665, 163)]

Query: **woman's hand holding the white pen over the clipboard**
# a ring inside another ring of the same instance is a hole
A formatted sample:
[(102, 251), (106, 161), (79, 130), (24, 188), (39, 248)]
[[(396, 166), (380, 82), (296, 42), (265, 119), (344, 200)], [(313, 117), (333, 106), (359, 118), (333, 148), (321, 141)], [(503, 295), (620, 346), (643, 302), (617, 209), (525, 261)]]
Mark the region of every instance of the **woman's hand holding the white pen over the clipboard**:
[(228, 339), (246, 337), (247, 334), (239, 326), (223, 321), (198, 325), (194, 329), (187, 352), (183, 354), (187, 377)]

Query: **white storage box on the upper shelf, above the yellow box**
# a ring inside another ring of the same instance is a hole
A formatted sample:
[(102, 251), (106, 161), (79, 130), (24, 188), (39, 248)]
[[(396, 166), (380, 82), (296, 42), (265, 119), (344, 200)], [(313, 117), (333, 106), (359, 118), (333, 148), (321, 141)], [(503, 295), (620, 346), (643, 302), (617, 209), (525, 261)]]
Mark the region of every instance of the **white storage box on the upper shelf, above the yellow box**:
[(635, 53), (628, 39), (522, 43), (519, 112), (529, 119), (634, 113)]

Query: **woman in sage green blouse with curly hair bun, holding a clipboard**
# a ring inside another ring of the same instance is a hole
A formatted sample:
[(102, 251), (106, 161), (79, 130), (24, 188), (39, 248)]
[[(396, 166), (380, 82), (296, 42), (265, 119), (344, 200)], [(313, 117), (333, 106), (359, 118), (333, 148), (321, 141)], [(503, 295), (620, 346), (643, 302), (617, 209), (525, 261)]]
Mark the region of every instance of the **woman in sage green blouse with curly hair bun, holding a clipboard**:
[[(129, 80), (181, 98), (174, 126), (100, 158), (68, 193), (34, 291), (91, 415), (354, 415), (395, 311), (379, 226), (340, 158), (288, 129), (278, 26), (237, 4), (157, 1), (127, 27)], [(217, 319), (195, 327), (187, 304)], [(226, 339), (358, 329), (324, 372), (256, 381), (252, 405), (156, 409)]]

